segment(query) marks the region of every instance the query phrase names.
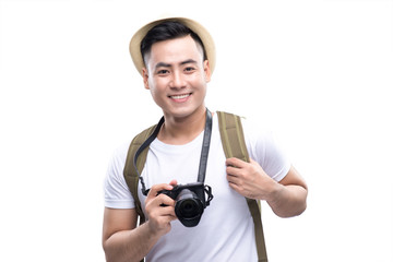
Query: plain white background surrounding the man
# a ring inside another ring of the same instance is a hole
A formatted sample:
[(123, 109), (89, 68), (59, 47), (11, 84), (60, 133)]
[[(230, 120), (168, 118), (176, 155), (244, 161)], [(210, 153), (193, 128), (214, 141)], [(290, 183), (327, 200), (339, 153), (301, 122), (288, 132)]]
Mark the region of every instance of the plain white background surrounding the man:
[(165, 12), (215, 38), (207, 106), (267, 123), (308, 181), (303, 215), (263, 206), (271, 261), (393, 261), (389, 0), (0, 0), (0, 260), (105, 261), (108, 160), (160, 117), (128, 43)]

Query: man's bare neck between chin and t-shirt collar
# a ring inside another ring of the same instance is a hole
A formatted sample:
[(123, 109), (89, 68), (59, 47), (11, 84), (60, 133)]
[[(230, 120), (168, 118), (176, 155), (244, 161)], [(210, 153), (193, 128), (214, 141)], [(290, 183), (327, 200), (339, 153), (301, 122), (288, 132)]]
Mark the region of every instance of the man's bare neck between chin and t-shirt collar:
[(204, 130), (205, 121), (205, 107), (183, 118), (165, 116), (165, 123), (157, 138), (167, 144), (187, 144)]

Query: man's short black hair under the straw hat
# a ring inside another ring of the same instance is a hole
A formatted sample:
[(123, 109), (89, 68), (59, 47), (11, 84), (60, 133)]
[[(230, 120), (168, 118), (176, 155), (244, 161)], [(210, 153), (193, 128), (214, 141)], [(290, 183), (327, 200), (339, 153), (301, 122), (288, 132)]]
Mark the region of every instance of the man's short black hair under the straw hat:
[(150, 53), (153, 44), (188, 35), (190, 35), (192, 39), (202, 47), (203, 60), (206, 60), (207, 56), (203, 43), (193, 31), (178, 21), (165, 21), (151, 28), (141, 41), (141, 53), (144, 63), (146, 64), (145, 55)]

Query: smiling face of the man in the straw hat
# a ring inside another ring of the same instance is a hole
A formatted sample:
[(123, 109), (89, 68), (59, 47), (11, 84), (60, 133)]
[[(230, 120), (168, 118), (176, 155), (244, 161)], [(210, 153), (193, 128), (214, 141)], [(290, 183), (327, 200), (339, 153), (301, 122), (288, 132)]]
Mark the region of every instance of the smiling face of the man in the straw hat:
[(204, 111), (209, 62), (191, 36), (153, 44), (143, 80), (166, 117), (184, 118)]

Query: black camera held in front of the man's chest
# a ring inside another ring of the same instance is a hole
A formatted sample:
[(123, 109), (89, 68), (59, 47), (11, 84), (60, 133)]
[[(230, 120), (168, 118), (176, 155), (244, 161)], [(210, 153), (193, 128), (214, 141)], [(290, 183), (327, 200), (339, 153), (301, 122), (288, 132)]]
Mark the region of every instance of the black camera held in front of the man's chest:
[(158, 194), (160, 193), (176, 200), (176, 216), (186, 227), (194, 227), (199, 224), (203, 210), (213, 199), (212, 188), (202, 182), (177, 184), (172, 190), (158, 191)]

